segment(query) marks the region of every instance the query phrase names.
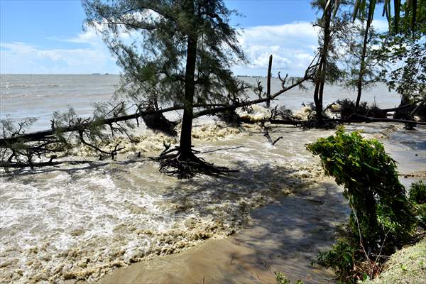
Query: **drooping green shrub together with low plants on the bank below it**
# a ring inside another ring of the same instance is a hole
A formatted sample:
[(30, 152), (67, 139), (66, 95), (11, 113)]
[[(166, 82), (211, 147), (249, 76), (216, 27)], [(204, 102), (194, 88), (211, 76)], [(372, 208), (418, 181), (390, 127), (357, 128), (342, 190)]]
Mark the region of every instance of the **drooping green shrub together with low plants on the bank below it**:
[(331, 251), (320, 253), (317, 263), (333, 268), (342, 283), (366, 280), (368, 275), (373, 278), (380, 265), (376, 256), (391, 255), (425, 221), (425, 211), (415, 203), (424, 200), (425, 185), (413, 184), (408, 200), (395, 161), (383, 145), (362, 138), (359, 132), (345, 133), (343, 126), (335, 136), (308, 144), (307, 150), (320, 155), (326, 174), (344, 186), (352, 209), (349, 231)]

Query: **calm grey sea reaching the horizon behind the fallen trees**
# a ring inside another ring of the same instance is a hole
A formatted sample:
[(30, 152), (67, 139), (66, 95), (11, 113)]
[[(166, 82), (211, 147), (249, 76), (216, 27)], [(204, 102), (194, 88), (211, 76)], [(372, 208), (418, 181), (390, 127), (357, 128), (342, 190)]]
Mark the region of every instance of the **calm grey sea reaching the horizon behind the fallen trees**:
[[(256, 85), (256, 78), (239, 77), (240, 80)], [(266, 89), (266, 78), (259, 78)], [(119, 86), (119, 75), (0, 75), (0, 119), (9, 115), (11, 119), (21, 121), (26, 117), (34, 117), (31, 130), (43, 130), (50, 127), (53, 111), (67, 111), (74, 107), (77, 114), (89, 116), (93, 111), (93, 103), (108, 102)], [(289, 82), (290, 83), (290, 82)], [(278, 78), (271, 80), (271, 92), (278, 92), (281, 82)], [(302, 103), (313, 102), (312, 87), (298, 87), (280, 95), (273, 104), (283, 104), (289, 109), (300, 109)], [(249, 92), (251, 98), (256, 95)], [(356, 99), (356, 92), (339, 86), (326, 86), (324, 104), (337, 99)], [(395, 92), (388, 92), (386, 84), (367, 89), (362, 100), (378, 107), (390, 108), (398, 106), (400, 97)], [(172, 115), (173, 114), (169, 114)]]

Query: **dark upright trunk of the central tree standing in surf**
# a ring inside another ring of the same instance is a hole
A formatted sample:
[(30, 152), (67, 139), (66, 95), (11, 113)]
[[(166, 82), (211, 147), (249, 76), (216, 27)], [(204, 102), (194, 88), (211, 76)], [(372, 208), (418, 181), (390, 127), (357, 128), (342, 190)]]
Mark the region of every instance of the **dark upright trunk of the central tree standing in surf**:
[(195, 64), (197, 59), (197, 35), (188, 35), (187, 40), (187, 60), (185, 70), (185, 98), (182, 119), (182, 129), (180, 132), (180, 154), (188, 157), (191, 152), (191, 132), (192, 132), (192, 106), (194, 104), (195, 93)]

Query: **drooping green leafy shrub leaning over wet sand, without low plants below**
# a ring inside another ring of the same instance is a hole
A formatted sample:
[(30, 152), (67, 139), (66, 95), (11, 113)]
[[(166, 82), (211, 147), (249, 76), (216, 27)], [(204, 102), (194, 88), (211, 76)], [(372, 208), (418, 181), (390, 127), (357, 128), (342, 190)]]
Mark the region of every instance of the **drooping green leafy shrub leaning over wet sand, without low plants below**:
[(386, 238), (396, 246), (410, 239), (414, 228), (410, 203), (395, 161), (381, 143), (358, 132), (345, 133), (340, 126), (335, 136), (320, 138), (307, 150), (320, 155), (326, 174), (344, 186), (352, 209), (349, 224), (366, 248), (373, 251)]

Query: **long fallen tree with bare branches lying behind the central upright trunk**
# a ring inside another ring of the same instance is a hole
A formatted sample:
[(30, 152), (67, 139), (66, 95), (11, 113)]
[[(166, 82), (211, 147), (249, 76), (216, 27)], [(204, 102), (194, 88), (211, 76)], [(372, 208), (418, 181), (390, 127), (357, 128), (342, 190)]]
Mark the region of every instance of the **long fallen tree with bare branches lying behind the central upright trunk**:
[[(240, 107), (250, 107), (253, 104), (268, 102), (288, 90), (300, 86), (302, 82), (311, 80), (317, 65), (318, 62), (312, 60), (303, 77), (296, 82), (292, 82), (292, 84), (287, 85), (286, 80), (282, 79), (282, 89), (271, 94), (271, 96), (249, 100), (238, 97), (236, 94), (228, 94), (229, 101), (226, 103), (193, 104), (192, 108), (197, 109), (197, 112), (192, 113), (192, 117), (226, 114), (226, 112), (235, 111), (235, 109)], [(246, 84), (240, 83), (238, 85), (238, 89), (241, 91), (246, 88)], [(134, 112), (127, 114), (132, 109), (134, 109)], [(182, 109), (185, 109), (182, 103), (172, 107), (153, 106), (147, 109), (142, 107), (142, 103), (125, 104), (124, 102), (118, 102), (113, 104), (105, 102), (96, 104), (94, 113), (89, 117), (77, 116), (72, 108), (63, 114), (55, 112), (51, 120), (50, 129), (31, 133), (26, 131), (34, 122), (34, 119), (26, 119), (21, 122), (13, 121), (9, 118), (3, 119), (0, 121), (0, 167), (26, 168), (58, 165), (66, 162), (66, 160), (58, 160), (58, 158), (67, 155), (67, 151), (81, 145), (99, 154), (99, 160), (107, 157), (114, 158), (124, 149), (117, 136), (127, 136), (129, 141), (133, 142), (133, 136), (129, 131), (135, 125), (132, 121), (135, 121), (136, 126), (139, 126), (141, 124), (140, 119), (143, 119), (143, 122), (149, 128), (150, 122), (148, 121), (153, 123), (158, 123), (158, 120), (164, 121), (164, 113), (182, 111)], [(277, 116), (280, 116), (278, 113), (279, 111), (272, 110), (271, 117), (264, 122), (270, 121), (274, 124), (290, 125), (299, 125), (304, 122), (292, 119), (277, 119)], [(165, 124), (168, 123), (175, 124), (175, 121), (168, 121)], [(118, 141), (114, 140), (115, 137), (118, 138)], [(168, 151), (170, 146), (166, 145), (166, 148), (168, 148), (166, 150)], [(73, 163), (77, 162), (74, 161)], [(170, 174), (180, 176), (178, 172), (170, 172)]]

